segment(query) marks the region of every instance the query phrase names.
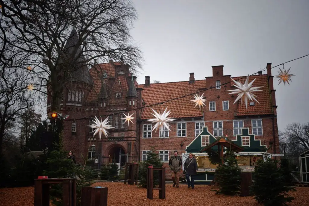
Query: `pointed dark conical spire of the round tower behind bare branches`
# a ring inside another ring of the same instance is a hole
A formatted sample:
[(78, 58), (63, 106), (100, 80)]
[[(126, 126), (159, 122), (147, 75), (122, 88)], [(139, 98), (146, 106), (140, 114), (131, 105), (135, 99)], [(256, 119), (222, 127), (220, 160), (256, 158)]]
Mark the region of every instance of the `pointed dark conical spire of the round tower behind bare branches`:
[(73, 65), (70, 65), (70, 70), (72, 71), (71, 81), (85, 82), (87, 84), (93, 85), (86, 65), (86, 59), (82, 55), (82, 47), (78, 44), (78, 41), (78, 35), (74, 27), (68, 40), (66, 41), (64, 52), (61, 55), (59, 63), (63, 62), (63, 59), (69, 59), (70, 61), (76, 59)]

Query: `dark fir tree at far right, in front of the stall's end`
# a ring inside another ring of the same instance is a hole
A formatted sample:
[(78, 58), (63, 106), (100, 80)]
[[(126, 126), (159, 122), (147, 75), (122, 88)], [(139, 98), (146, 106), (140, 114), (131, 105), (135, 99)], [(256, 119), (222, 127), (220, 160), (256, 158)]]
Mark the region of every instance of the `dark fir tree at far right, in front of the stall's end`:
[(288, 196), (292, 187), (287, 186), (278, 161), (267, 158), (258, 160), (254, 171), (254, 182), (251, 191), (258, 203), (265, 206), (280, 206), (291, 202), (294, 198)]

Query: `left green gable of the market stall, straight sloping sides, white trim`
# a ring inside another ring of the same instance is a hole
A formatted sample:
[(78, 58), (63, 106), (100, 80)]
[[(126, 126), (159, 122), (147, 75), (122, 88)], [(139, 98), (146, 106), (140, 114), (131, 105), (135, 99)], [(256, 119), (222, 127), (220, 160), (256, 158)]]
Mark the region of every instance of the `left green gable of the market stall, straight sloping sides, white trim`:
[[(203, 131), (197, 135), (197, 137), (188, 146), (186, 146), (186, 153), (197, 153), (203, 148), (201, 139), (202, 135), (209, 135), (209, 144), (212, 144), (214, 141), (216, 141), (216, 138), (210, 132), (208, 132), (208, 127), (203, 127)], [(218, 148), (215, 147), (213, 150), (218, 150)]]

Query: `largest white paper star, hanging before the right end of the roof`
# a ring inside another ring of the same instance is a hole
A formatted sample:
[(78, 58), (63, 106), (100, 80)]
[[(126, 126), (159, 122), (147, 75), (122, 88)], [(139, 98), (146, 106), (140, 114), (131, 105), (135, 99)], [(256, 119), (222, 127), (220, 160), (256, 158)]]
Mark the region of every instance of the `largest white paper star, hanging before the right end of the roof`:
[(235, 84), (233, 84), (233, 85), (238, 88), (238, 89), (235, 89), (235, 90), (227, 90), (227, 91), (231, 91), (231, 93), (229, 93), (229, 95), (231, 95), (231, 94), (238, 94), (238, 96), (235, 99), (235, 102), (233, 104), (235, 104), (241, 98), (240, 105), (242, 105), (243, 100), (244, 100), (244, 102), (246, 104), (246, 109), (248, 110), (248, 99), (250, 99), (251, 101), (255, 100), (257, 103), (259, 103), (256, 100), (257, 96), (252, 94), (252, 92), (262, 91), (262, 90), (259, 90), (259, 89), (261, 87), (263, 87), (263, 86), (252, 87), (252, 84), (256, 80), (256, 78), (253, 79), (253, 81), (250, 82), (249, 84), (248, 84), (248, 82), (249, 82), (249, 74), (248, 74), (248, 77), (247, 77), (247, 79), (246, 79), (244, 84), (242, 84), (241, 82), (236, 82), (234, 79), (232, 79), (232, 80), (236, 84), (236, 85)]

